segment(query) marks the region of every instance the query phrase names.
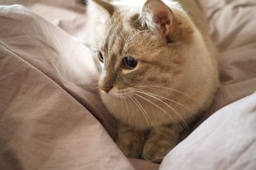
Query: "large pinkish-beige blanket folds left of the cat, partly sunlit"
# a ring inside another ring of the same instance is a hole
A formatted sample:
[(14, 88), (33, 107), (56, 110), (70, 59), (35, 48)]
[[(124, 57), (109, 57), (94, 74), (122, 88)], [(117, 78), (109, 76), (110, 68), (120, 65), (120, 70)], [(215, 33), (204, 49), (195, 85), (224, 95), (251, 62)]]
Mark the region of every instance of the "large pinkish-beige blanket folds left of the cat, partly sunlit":
[(133, 170), (88, 111), (103, 108), (86, 49), (21, 6), (0, 23), (0, 169)]

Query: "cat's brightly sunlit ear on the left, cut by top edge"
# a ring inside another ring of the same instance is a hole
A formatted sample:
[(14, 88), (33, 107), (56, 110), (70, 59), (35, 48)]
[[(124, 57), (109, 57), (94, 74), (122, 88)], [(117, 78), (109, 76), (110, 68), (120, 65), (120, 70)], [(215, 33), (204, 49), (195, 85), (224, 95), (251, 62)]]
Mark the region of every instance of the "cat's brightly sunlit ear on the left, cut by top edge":
[(98, 16), (101, 22), (105, 22), (115, 12), (115, 6), (104, 0), (88, 0), (87, 10), (89, 15)]

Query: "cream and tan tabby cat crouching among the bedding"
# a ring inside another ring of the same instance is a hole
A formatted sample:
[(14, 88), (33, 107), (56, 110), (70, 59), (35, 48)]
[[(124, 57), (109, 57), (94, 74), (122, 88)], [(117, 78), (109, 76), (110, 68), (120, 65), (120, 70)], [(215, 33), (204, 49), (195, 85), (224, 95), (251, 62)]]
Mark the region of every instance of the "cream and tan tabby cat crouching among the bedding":
[(153, 160), (212, 103), (217, 50), (197, 0), (89, 0), (102, 102), (119, 149)]

